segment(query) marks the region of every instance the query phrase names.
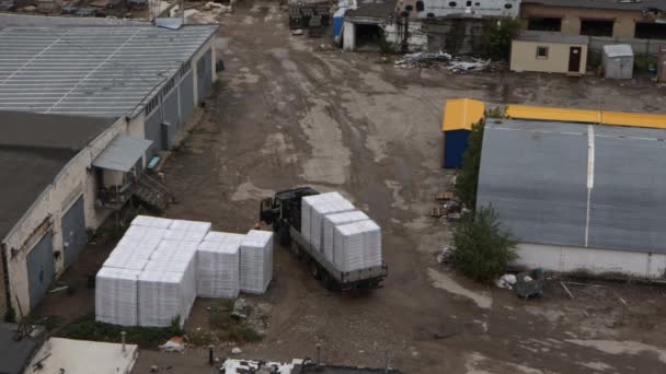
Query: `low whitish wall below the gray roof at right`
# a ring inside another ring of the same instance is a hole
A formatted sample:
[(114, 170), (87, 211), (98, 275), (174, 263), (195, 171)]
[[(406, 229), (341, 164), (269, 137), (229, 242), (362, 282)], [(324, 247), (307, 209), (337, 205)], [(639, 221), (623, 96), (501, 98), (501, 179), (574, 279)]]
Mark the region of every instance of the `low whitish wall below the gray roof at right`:
[(665, 278), (666, 255), (519, 243), (517, 265), (556, 272), (622, 273), (639, 278)]

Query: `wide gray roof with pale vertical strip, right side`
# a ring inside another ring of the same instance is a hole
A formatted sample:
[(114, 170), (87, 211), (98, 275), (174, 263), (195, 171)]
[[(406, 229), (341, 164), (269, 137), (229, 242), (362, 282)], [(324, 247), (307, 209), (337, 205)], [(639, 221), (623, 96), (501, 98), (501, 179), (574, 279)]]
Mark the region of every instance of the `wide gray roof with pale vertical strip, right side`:
[(489, 122), (478, 203), (518, 242), (666, 253), (664, 139), (658, 129)]

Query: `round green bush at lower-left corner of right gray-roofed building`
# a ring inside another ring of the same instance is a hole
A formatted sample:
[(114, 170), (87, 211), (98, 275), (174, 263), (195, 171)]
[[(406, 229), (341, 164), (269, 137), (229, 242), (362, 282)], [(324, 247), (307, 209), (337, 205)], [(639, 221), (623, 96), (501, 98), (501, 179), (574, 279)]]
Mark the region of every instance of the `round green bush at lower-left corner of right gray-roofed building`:
[(475, 281), (492, 282), (517, 258), (516, 244), (509, 237), (492, 207), (464, 214), (453, 233), (453, 266)]

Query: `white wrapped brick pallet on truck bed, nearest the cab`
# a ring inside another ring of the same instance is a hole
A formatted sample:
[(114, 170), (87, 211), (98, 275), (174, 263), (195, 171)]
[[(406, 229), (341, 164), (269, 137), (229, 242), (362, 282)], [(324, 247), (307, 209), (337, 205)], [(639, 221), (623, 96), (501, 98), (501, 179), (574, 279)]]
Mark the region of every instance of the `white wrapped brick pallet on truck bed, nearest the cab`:
[(337, 192), (307, 196), (301, 203), (301, 234), (314, 249), (323, 247), (323, 219), (326, 214), (355, 210), (347, 199)]

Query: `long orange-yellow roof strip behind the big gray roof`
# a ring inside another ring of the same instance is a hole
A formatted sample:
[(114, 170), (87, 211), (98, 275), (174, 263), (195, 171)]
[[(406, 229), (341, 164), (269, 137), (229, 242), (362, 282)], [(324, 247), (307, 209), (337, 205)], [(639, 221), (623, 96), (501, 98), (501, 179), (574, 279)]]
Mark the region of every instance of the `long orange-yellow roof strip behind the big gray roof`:
[(508, 105), (506, 107), (506, 116), (508, 118), (520, 119), (559, 120), (567, 122), (587, 122), (666, 129), (666, 115), (658, 114)]

